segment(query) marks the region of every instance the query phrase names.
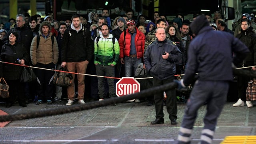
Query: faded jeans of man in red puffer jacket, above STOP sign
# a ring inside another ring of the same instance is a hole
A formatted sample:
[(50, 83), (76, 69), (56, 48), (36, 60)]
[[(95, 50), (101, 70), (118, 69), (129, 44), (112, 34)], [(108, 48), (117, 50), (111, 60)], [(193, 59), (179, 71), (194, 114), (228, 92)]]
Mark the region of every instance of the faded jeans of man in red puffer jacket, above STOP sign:
[(124, 70), (125, 70), (125, 76), (134, 76), (138, 64), (142, 62), (142, 58), (137, 57), (124, 57)]

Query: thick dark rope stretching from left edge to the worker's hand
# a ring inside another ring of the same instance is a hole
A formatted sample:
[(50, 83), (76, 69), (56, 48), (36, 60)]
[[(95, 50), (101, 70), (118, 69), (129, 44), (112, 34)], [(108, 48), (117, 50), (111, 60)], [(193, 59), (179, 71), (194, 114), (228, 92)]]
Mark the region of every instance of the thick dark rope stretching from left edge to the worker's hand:
[(164, 84), (162, 86), (157, 86), (157, 87), (150, 88), (147, 90), (142, 90), (139, 93), (121, 96), (118, 98), (104, 99), (100, 102), (90, 102), (90, 103), (86, 103), (84, 105), (66, 106), (64, 108), (63, 107), (62, 108), (54, 108), (54, 109), (40, 110), (40, 111), (29, 112), (29, 113), (4, 115), (4, 116), (0, 116), (0, 122), (24, 120), (24, 119), (29, 119), (29, 118), (40, 118), (40, 117), (44, 117), (44, 116), (53, 116), (53, 115), (58, 115), (58, 114), (66, 114), (69, 112), (77, 112), (80, 110), (89, 110), (92, 108), (107, 106), (109, 104), (114, 104), (114, 103), (118, 104), (120, 102), (125, 102), (127, 100), (133, 100), (135, 98), (144, 98), (146, 96), (156, 94), (158, 92), (163, 92), (165, 90), (174, 89), (176, 87), (177, 87), (177, 84), (174, 82), (171, 82), (168, 84)]

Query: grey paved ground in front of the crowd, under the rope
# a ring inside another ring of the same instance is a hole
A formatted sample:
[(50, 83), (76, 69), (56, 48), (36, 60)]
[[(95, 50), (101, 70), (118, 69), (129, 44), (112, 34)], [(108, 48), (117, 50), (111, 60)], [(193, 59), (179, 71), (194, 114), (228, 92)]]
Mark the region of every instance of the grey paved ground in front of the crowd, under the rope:
[[(66, 107), (66, 101), (52, 105), (30, 103), (26, 108), (16, 104), (0, 109), (8, 114), (19, 114)], [(227, 102), (218, 119), (214, 144), (225, 136), (256, 135), (256, 107), (232, 107)], [(74, 105), (78, 105), (77, 102)], [(1, 144), (175, 144), (184, 114), (185, 104), (178, 103), (177, 125), (171, 125), (164, 106), (165, 123), (151, 125), (155, 119), (154, 106), (120, 103), (56, 116), (18, 120), (0, 128)], [(198, 111), (192, 144), (197, 144), (203, 127), (206, 106)]]

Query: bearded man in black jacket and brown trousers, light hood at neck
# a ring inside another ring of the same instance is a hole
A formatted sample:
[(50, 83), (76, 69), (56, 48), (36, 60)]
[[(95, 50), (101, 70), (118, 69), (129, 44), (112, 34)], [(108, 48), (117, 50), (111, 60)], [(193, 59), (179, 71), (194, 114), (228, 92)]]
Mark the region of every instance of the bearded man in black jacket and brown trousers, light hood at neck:
[[(82, 27), (80, 15), (74, 14), (72, 16), (72, 24), (70, 29), (66, 29), (63, 35), (63, 45), (61, 52), (61, 66), (67, 66), (69, 72), (78, 72), (78, 103), (85, 104), (84, 102), (84, 75), (86, 73), (87, 65), (92, 59), (93, 42), (91, 39), (90, 30)], [(68, 103), (71, 106), (74, 101), (74, 78), (72, 74), (72, 84), (68, 86)]]

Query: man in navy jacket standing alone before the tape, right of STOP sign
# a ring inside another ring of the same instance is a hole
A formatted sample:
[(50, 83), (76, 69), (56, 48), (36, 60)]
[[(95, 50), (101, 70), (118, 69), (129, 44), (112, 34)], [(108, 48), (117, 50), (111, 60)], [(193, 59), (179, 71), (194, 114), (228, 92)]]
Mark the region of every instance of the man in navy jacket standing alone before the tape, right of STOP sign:
[[(174, 80), (175, 62), (182, 57), (178, 47), (166, 39), (164, 28), (156, 29), (156, 38), (144, 55), (144, 64), (148, 73), (153, 76), (153, 86), (160, 86)], [(177, 103), (175, 89), (166, 90), (166, 108), (171, 124), (177, 124)], [(155, 94), (156, 120), (151, 124), (163, 124), (163, 92)]]

